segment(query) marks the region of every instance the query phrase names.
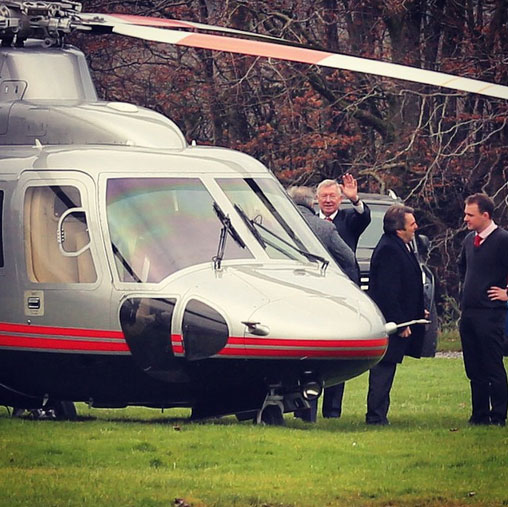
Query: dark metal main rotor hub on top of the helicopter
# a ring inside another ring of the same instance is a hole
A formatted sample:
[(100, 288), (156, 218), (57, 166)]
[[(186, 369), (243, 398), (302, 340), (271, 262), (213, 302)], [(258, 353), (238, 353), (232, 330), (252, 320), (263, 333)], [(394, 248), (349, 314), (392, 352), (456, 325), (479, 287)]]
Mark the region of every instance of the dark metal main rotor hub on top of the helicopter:
[(42, 39), (46, 46), (63, 42), (81, 12), (80, 2), (16, 2), (0, 0), (2, 46), (23, 46), (28, 38)]

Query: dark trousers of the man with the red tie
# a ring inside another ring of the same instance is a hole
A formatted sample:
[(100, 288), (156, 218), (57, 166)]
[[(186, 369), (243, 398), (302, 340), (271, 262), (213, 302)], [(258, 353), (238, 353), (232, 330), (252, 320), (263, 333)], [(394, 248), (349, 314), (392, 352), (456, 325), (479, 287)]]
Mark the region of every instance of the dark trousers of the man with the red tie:
[(505, 317), (504, 309), (466, 309), (462, 312), (459, 331), (464, 367), (471, 384), (472, 423), (503, 423), (506, 420)]

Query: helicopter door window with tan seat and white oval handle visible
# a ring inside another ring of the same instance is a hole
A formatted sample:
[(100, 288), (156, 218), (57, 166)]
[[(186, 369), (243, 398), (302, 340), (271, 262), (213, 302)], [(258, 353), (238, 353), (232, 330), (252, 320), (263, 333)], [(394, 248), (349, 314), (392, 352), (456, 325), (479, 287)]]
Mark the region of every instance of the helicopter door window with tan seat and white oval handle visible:
[(36, 283), (93, 283), (87, 216), (73, 186), (33, 186), (25, 193), (25, 255)]

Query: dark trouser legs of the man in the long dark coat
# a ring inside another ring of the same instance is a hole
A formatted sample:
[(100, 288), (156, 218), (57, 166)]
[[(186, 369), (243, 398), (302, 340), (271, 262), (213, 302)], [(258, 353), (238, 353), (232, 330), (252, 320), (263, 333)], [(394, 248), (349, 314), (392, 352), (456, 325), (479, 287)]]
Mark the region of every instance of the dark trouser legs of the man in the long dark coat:
[(397, 363), (381, 361), (369, 371), (369, 392), (365, 416), (367, 424), (388, 424), (390, 390), (396, 369)]

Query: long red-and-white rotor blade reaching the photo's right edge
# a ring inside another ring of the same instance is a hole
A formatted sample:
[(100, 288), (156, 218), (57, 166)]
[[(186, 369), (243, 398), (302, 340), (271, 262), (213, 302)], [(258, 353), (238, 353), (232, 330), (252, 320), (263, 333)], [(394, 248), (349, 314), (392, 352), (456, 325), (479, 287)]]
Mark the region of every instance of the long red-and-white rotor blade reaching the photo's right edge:
[[(81, 15), (83, 28), (108, 28), (113, 33), (135, 37), (138, 39), (175, 44), (179, 46), (228, 51), (231, 53), (276, 58), (300, 63), (308, 63), (333, 69), (364, 72), (383, 77), (402, 79), (415, 83), (441, 86), (469, 93), (478, 93), (489, 97), (508, 99), (508, 87), (477, 79), (464, 78), (431, 70), (419, 69), (389, 62), (348, 56), (319, 49), (302, 47), (295, 43), (251, 32), (243, 32), (230, 28), (203, 25), (189, 21), (179, 21), (162, 18), (145, 18), (130, 15)], [(140, 26), (143, 25), (143, 26)], [(146, 26), (148, 25), (148, 26)], [(203, 33), (187, 33), (172, 28), (212, 30), (223, 33), (234, 33), (257, 38), (247, 40), (228, 37), (225, 35), (211, 35)]]

